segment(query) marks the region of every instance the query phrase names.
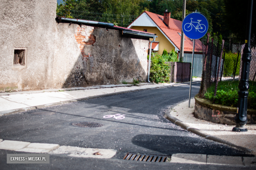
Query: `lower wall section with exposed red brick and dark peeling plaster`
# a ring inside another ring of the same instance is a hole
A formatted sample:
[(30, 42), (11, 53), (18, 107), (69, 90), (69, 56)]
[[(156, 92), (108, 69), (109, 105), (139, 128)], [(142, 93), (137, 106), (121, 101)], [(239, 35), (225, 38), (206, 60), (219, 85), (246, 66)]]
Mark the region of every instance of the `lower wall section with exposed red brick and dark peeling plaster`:
[(61, 62), (67, 71), (54, 74), (54, 79), (62, 77), (59, 84), (65, 81), (63, 87), (132, 82), (134, 78), (146, 81), (148, 39), (125, 36), (117, 30), (59, 23), (56, 40), (59, 48), (54, 64)]

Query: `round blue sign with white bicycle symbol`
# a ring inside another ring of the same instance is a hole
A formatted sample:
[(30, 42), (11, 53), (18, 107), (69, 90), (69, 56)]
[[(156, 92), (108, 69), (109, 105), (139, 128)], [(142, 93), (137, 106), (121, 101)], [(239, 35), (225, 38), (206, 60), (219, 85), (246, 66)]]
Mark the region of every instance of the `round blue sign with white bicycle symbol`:
[(202, 38), (208, 30), (208, 20), (201, 13), (190, 13), (182, 22), (182, 30), (188, 38)]

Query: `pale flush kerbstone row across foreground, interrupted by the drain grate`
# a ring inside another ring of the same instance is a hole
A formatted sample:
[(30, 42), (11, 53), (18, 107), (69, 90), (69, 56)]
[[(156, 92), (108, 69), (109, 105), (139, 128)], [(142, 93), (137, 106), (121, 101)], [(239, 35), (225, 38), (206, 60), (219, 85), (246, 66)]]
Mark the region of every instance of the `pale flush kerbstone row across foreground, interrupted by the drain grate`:
[[(0, 141), (1, 140), (2, 139), (0, 139)], [(65, 145), (59, 146), (58, 144), (30, 143), (14, 140), (4, 140), (3, 143), (4, 144), (0, 145), (0, 149), (14, 150), (17, 152), (48, 153), (52, 155), (66, 154), (70, 157), (97, 159), (111, 159), (117, 154), (117, 150), (115, 149), (82, 148)], [(253, 167), (256, 166), (256, 164), (254, 164), (255, 161), (255, 157), (177, 153), (171, 155), (170, 163), (218, 164)]]

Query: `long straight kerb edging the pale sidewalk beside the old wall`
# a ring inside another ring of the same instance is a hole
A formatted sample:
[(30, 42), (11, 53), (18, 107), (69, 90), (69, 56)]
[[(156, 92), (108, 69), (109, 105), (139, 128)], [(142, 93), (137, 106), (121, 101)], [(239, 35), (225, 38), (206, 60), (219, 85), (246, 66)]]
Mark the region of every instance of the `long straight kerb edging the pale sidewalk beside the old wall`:
[[(171, 87), (171, 86), (173, 86), (173, 85), (166, 85), (163, 87)], [(109, 93), (109, 94), (97, 95), (97, 96), (89, 96), (89, 97), (84, 97), (84, 98), (60, 101), (60, 102), (56, 102), (56, 103), (49, 103), (49, 104), (43, 104), (43, 105), (38, 105), (38, 106), (25, 107), (25, 108), (21, 108), (21, 109), (6, 110), (6, 111), (1, 111), (0, 116), (11, 115), (11, 114), (19, 113), (19, 112), (25, 112), (28, 110), (39, 109), (39, 108), (49, 107), (49, 106), (56, 106), (56, 105), (61, 105), (61, 104), (67, 104), (67, 103), (88, 100), (88, 99), (93, 99), (93, 98), (119, 95), (119, 94), (123, 94), (123, 93), (129, 93), (129, 92), (135, 92), (135, 91), (141, 91), (141, 90), (158, 89), (158, 88), (163, 88), (163, 87), (149, 87), (149, 88), (143, 88), (143, 89), (133, 89), (133, 90), (127, 90), (127, 91), (122, 91), (122, 92), (115, 92), (115, 93)]]

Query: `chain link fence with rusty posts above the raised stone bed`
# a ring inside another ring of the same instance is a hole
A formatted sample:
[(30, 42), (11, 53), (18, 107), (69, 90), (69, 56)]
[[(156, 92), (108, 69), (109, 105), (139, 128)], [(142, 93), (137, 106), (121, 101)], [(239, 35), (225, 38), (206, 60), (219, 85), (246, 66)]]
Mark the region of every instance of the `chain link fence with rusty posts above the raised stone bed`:
[[(204, 97), (207, 89), (213, 86), (216, 81), (233, 81), (238, 83), (241, 78), (242, 70), (242, 55), (245, 45), (242, 45), (241, 51), (237, 48), (237, 53), (228, 51), (228, 48), (224, 47), (222, 53), (222, 59), (220, 62), (221, 55), (221, 44), (218, 44), (217, 40), (209, 39), (207, 43), (206, 39), (201, 39), (203, 45), (203, 73), (202, 83), (199, 95)], [(207, 45), (208, 44), (208, 45)], [(233, 50), (234, 51), (234, 50)], [(250, 63), (249, 80), (256, 81), (256, 49), (252, 48), (252, 60)], [(220, 70), (218, 67), (220, 65)], [(219, 74), (219, 75), (218, 75)], [(218, 76), (217, 76), (218, 75)], [(217, 80), (218, 77), (218, 80)], [(217, 88), (217, 87), (216, 87)]]

